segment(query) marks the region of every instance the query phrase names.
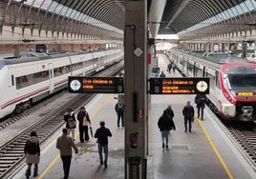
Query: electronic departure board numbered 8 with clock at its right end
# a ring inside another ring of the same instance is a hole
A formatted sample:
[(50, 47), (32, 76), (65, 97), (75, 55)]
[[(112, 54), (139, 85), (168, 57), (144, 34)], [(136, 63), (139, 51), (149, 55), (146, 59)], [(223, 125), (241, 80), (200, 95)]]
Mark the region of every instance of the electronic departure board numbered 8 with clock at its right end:
[(208, 94), (209, 78), (150, 78), (150, 94)]

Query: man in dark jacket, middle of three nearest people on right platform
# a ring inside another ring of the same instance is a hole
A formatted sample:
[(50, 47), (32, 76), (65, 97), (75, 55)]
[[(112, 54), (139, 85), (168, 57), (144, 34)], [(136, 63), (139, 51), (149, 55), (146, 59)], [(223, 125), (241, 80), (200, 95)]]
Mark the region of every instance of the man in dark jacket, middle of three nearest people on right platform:
[(184, 106), (184, 108), (182, 109), (182, 114), (184, 116), (185, 132), (187, 131), (187, 122), (188, 122), (189, 132), (191, 132), (191, 129), (192, 129), (191, 122), (194, 120), (194, 113), (195, 113), (195, 109), (190, 105), (190, 101), (187, 101), (186, 106)]

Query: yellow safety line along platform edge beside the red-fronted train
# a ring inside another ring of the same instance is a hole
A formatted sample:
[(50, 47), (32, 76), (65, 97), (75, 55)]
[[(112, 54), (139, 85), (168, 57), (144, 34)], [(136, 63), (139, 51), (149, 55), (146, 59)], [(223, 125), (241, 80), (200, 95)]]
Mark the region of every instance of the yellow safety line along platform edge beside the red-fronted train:
[[(183, 98), (185, 99), (185, 101), (187, 101), (187, 96), (183, 96)], [(210, 144), (211, 148), (214, 150), (215, 154), (217, 155), (218, 159), (220, 160), (221, 164), (224, 167), (224, 170), (226, 172), (226, 174), (228, 175), (229, 179), (234, 179), (231, 171), (227, 168), (225, 162), (224, 162), (224, 158), (222, 157), (222, 155), (220, 154), (219, 150), (215, 147), (209, 133), (207, 132), (207, 130), (204, 128), (203, 123), (201, 121), (201, 119), (199, 119), (198, 117), (195, 117), (199, 123), (199, 126), (201, 127), (201, 129), (203, 130), (203, 134), (205, 135), (208, 143)]]

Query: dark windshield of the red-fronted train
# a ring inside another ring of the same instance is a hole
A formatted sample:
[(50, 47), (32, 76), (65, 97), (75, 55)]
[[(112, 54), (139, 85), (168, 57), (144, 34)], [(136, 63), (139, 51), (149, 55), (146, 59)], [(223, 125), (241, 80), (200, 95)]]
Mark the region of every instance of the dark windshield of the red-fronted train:
[(227, 74), (224, 81), (228, 89), (256, 89), (256, 74)]

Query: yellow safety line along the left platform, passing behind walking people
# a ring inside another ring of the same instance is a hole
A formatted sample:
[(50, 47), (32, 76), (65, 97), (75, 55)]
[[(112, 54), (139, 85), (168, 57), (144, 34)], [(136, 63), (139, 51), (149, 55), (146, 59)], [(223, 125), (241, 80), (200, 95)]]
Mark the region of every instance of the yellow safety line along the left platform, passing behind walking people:
[[(91, 117), (91, 120), (93, 120), (96, 117), (96, 115), (98, 114), (98, 112), (108, 103), (111, 96), (112, 95), (109, 95), (107, 97), (107, 99), (105, 99), (104, 102), (96, 109), (96, 111), (93, 113), (93, 115)], [(76, 132), (75, 138), (78, 136), (78, 134), (79, 134), (79, 132)], [(45, 175), (49, 172), (50, 169), (53, 168), (53, 166), (59, 159), (60, 159), (60, 155), (58, 154), (57, 156), (55, 156), (53, 161), (48, 165), (48, 167), (46, 169), (44, 169), (44, 171), (42, 173), (40, 173), (40, 175), (38, 176), (38, 179), (43, 179), (45, 177)]]

